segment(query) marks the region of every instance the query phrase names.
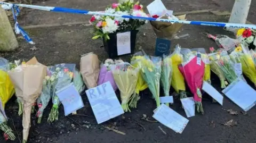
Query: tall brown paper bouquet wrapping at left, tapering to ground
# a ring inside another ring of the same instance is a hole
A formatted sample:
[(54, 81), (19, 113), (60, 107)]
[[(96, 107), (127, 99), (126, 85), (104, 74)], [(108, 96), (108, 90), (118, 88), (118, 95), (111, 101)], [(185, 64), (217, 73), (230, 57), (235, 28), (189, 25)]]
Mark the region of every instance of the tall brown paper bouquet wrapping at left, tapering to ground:
[(31, 107), (41, 94), (43, 79), (46, 75), (47, 67), (38, 63), (33, 57), (25, 65), (18, 66), (9, 72), (14, 85), (16, 95), (23, 103), (23, 140), (28, 140), (30, 129)]

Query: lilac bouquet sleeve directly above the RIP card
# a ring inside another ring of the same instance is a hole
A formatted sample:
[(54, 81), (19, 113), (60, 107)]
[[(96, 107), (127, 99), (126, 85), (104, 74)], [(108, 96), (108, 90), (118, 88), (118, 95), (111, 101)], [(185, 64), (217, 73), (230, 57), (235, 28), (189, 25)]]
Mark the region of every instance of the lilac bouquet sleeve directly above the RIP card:
[(100, 74), (99, 74), (98, 85), (101, 85), (101, 84), (103, 84), (107, 81), (109, 81), (111, 83), (111, 86), (116, 91), (117, 86), (116, 86), (116, 82), (115, 82), (114, 77), (113, 77), (113, 73), (111, 72), (111, 70), (109, 71), (107, 69), (107, 67), (102, 63), (100, 65)]

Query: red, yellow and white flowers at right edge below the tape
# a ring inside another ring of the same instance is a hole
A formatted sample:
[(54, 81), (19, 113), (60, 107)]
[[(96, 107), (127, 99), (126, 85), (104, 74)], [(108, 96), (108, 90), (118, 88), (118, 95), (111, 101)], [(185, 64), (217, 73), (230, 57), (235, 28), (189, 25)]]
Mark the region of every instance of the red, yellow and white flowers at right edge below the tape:
[(239, 29), (236, 33), (237, 40), (245, 47), (249, 46), (249, 49), (255, 49), (255, 36), (256, 31), (253, 29)]

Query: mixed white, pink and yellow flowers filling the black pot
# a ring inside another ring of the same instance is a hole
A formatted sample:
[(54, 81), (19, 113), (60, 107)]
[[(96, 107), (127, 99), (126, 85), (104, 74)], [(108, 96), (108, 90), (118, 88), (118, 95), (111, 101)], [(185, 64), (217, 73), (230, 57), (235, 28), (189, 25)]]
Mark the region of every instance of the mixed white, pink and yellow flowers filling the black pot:
[[(148, 17), (142, 8), (143, 6), (139, 2), (134, 3), (133, 0), (126, 0), (113, 3), (111, 7), (107, 7), (102, 13)], [(92, 39), (101, 37), (105, 40), (110, 39), (109, 33), (136, 30), (147, 23), (143, 19), (129, 19), (106, 15), (93, 15), (90, 22), (93, 24), (95, 35)]]

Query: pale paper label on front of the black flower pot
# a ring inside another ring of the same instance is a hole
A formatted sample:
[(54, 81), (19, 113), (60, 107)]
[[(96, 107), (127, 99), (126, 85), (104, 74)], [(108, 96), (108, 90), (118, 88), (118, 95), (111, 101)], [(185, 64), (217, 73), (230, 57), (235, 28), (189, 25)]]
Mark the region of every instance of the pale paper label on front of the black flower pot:
[(117, 55), (131, 53), (131, 32), (117, 33)]

